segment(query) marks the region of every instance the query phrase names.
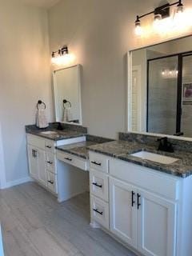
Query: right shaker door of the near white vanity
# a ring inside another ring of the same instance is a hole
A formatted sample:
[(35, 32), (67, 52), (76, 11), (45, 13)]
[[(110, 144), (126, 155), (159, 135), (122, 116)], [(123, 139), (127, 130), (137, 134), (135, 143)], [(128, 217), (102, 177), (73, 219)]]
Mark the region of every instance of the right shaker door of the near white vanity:
[(177, 206), (138, 190), (138, 249), (146, 256), (174, 256)]

